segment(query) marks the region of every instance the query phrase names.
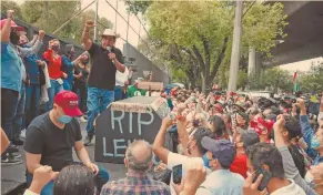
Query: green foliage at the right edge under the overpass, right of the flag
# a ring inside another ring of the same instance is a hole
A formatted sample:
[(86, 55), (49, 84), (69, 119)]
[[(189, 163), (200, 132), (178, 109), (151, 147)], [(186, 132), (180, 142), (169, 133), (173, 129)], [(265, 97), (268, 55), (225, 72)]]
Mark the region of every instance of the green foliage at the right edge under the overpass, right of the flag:
[(323, 64), (312, 65), (310, 71), (300, 75), (300, 86), (303, 92), (316, 92), (323, 91)]

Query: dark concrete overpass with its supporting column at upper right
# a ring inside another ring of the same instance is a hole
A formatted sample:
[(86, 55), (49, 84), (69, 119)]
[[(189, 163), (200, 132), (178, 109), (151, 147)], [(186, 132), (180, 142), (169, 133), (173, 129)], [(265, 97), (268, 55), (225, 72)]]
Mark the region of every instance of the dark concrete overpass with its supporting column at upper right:
[(287, 37), (277, 38), (272, 49), (273, 58), (262, 62), (258, 54), (250, 52), (249, 72), (258, 72), (263, 66), (323, 57), (323, 1), (282, 1), (289, 25), (284, 29)]

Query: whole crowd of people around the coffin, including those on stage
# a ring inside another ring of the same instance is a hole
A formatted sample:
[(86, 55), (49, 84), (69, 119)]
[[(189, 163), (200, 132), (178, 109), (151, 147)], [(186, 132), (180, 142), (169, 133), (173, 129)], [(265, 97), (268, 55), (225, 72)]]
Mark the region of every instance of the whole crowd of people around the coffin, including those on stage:
[[(153, 144), (131, 143), (125, 177), (109, 181), (109, 172), (91, 162), (85, 148), (95, 119), (114, 100), (151, 95), (139, 89), (141, 80), (127, 88), (132, 70), (114, 47), (117, 34), (107, 29), (97, 44), (89, 35), (94, 22), (87, 21), (87, 52), (75, 58), (73, 45), (65, 45), (62, 54), (54, 39), (40, 57), (44, 32), (29, 41), (13, 11), (7, 17), (1, 20), (1, 164), (22, 163), (14, 145), (23, 145), (26, 195), (323, 194), (323, 98), (313, 117), (302, 96), (279, 103), (218, 89), (208, 95), (180, 88), (158, 92), (170, 113)], [(162, 174), (151, 177), (154, 173)]]

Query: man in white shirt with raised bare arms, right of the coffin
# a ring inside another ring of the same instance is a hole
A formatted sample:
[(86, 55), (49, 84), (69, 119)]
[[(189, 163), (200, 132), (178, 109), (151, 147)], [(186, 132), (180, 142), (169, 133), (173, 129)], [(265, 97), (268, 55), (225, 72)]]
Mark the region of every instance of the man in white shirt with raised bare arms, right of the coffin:
[[(185, 148), (184, 151), (185, 155), (173, 153), (164, 147), (165, 133), (168, 132), (169, 127), (172, 125), (172, 121), (169, 117), (163, 119), (161, 129), (153, 143), (154, 154), (164, 164), (166, 164), (169, 170), (172, 170), (174, 166), (182, 164), (183, 176), (185, 175), (185, 172), (189, 168), (191, 163), (202, 164), (208, 167), (208, 165), (205, 165), (202, 160), (202, 156), (206, 153), (206, 150), (202, 147), (201, 140), (204, 136), (213, 137), (213, 133), (211, 132), (211, 130), (205, 129), (205, 127), (196, 129), (195, 133), (191, 137), (189, 137), (184, 127), (184, 123), (185, 123), (185, 119), (182, 120), (178, 116), (178, 134), (179, 134), (179, 140), (183, 148)], [(210, 173), (211, 170), (208, 168), (206, 172)], [(171, 183), (173, 179), (171, 177)], [(170, 187), (171, 187), (171, 193), (175, 194), (173, 186), (170, 185)]]

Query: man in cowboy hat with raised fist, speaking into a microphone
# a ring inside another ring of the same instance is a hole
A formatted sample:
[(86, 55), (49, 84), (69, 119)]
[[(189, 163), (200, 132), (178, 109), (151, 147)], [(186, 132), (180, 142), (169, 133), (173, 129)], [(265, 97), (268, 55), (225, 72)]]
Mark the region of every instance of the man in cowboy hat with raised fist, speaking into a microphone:
[(82, 42), (92, 64), (88, 80), (85, 145), (91, 145), (94, 135), (93, 122), (100, 112), (100, 100), (104, 109), (113, 102), (117, 70), (122, 73), (125, 70), (122, 52), (114, 47), (117, 34), (111, 29), (105, 29), (101, 34), (101, 45), (98, 45), (90, 39), (90, 29), (94, 25), (93, 21), (88, 20), (82, 33)]

